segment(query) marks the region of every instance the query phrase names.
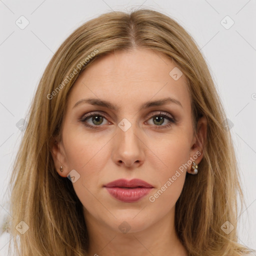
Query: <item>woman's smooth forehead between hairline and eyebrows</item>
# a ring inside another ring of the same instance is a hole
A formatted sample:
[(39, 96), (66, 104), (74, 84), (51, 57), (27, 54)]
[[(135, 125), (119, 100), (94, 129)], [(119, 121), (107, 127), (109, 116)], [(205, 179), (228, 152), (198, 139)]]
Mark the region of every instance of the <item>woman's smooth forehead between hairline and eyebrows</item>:
[(68, 107), (91, 97), (111, 101), (119, 109), (172, 97), (189, 108), (187, 80), (181, 74), (175, 62), (158, 51), (115, 51), (99, 57), (79, 75), (70, 91)]

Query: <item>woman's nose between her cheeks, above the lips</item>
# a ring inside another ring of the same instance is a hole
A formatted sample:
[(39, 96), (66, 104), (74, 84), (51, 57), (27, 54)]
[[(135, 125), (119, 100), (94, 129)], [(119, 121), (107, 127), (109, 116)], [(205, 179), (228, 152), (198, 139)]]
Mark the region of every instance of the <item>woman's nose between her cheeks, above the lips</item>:
[(119, 127), (116, 129), (117, 134), (113, 137), (113, 161), (125, 167), (140, 166), (144, 162), (145, 142), (135, 124), (132, 124), (126, 131)]

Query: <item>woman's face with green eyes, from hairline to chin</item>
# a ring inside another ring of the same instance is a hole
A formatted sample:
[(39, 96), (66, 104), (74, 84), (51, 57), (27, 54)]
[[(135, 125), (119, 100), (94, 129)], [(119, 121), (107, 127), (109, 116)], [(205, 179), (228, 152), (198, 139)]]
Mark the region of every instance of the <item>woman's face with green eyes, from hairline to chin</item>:
[[(186, 79), (175, 66), (156, 51), (116, 51), (75, 81), (53, 158), (59, 175), (72, 170), (87, 221), (136, 232), (174, 216), (191, 157), (196, 163), (202, 158)], [(141, 179), (151, 188), (105, 187), (121, 178)]]

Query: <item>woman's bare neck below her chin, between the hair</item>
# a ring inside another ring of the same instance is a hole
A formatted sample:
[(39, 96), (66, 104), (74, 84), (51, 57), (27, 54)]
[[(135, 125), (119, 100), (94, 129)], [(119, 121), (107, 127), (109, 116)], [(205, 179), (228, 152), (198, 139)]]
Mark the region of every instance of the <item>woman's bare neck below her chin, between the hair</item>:
[(114, 229), (107, 223), (98, 222), (87, 211), (84, 215), (89, 235), (88, 255), (157, 256), (166, 255), (166, 252), (170, 256), (188, 255), (175, 232), (174, 209), (143, 230), (126, 233), (125, 227), (128, 230), (129, 224), (123, 223), (124, 232), (120, 232), (118, 227)]

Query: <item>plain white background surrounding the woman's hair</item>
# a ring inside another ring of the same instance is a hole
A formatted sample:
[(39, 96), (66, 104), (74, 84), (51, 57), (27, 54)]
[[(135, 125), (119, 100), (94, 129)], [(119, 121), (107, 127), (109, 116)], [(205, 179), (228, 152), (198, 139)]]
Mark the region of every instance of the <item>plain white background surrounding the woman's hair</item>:
[[(0, 223), (8, 214), (5, 191), (22, 135), (16, 123), (26, 117), (53, 53), (85, 21), (106, 11), (139, 7), (173, 17), (205, 57), (227, 117), (234, 124), (230, 131), (246, 202), (238, 217), (239, 242), (256, 249), (255, 0), (0, 0)], [(15, 24), (21, 15), (29, 21), (24, 29)], [(221, 24), (226, 15), (234, 21), (229, 29)], [(6, 255), (11, 238), (5, 234), (0, 238), (0, 255)]]

